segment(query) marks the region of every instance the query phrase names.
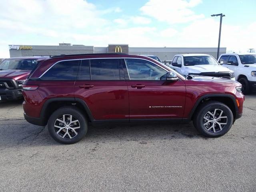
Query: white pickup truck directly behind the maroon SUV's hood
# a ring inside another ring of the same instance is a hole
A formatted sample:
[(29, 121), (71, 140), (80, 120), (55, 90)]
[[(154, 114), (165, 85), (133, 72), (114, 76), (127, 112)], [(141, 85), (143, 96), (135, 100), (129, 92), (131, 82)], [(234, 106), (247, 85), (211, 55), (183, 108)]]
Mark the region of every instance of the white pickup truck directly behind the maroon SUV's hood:
[(234, 71), (221, 66), (214, 57), (207, 54), (175, 55), (169, 67), (183, 75), (212, 76), (235, 80)]

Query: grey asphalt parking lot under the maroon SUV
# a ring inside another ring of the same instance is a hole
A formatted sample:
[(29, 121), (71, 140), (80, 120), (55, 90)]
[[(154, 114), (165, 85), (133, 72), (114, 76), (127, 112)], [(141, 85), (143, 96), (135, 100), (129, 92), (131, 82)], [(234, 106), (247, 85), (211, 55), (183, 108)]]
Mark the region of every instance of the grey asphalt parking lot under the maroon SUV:
[(0, 191), (256, 191), (256, 94), (220, 138), (192, 124), (89, 127), (72, 145), (0, 103)]

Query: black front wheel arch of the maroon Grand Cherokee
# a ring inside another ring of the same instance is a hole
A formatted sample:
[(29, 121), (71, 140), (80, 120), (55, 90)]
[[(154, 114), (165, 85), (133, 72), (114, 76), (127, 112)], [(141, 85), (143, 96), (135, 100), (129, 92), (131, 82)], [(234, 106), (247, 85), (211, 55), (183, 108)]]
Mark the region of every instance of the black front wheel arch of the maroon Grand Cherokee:
[(196, 104), (190, 111), (189, 119), (191, 119), (191, 120), (194, 119), (194, 115), (197, 114), (196, 112), (197, 112), (198, 108), (200, 108), (200, 106), (204, 102), (207, 102), (209, 100), (219, 101), (219, 102), (226, 104), (232, 111), (234, 120), (236, 119), (236, 117), (238, 115), (238, 106), (236, 105), (236, 99), (234, 98), (234, 96), (232, 96), (230, 94), (206, 94), (206, 95), (201, 96), (196, 101)]

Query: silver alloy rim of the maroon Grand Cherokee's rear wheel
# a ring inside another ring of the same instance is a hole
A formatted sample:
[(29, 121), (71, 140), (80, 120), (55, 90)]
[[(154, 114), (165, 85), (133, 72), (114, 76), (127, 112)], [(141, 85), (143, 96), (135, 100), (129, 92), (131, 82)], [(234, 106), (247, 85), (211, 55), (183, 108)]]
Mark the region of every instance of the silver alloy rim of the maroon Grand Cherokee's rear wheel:
[(80, 129), (79, 121), (70, 114), (59, 116), (54, 122), (54, 130), (61, 138), (74, 138)]

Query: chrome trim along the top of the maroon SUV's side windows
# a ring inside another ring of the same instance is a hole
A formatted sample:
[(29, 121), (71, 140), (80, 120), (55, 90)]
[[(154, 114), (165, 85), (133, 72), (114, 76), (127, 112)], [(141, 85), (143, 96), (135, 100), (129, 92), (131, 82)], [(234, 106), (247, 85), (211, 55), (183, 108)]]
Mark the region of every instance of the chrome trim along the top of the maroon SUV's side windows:
[[(80, 60), (91, 60), (91, 59), (141, 59), (141, 60), (146, 60), (146, 61), (148, 61), (148, 62), (151, 62), (152, 64), (155, 64), (155, 65), (157, 65), (157, 66), (159, 66), (160, 68), (162, 68), (163, 70), (165, 70), (166, 72), (168, 72), (168, 71), (172, 71), (172, 72), (175, 72), (174, 70), (172, 70), (171, 68), (170, 68), (170, 70), (167, 70), (166, 68), (163, 68), (162, 66), (160, 66), (160, 65), (158, 65), (158, 64), (156, 64), (155, 62), (152, 62), (152, 61), (150, 61), (150, 60), (148, 60), (148, 59), (144, 59), (144, 58), (138, 58), (138, 57), (102, 57), (102, 58), (82, 58), (82, 59), (66, 59), (66, 60), (59, 60), (59, 61), (57, 61), (56, 63), (54, 63), (52, 66), (50, 66), (42, 75), (40, 75), (39, 77), (36, 77), (36, 78), (30, 78), (30, 79), (40, 79), (44, 74), (46, 74), (46, 72), (48, 72), (48, 70), (50, 70), (53, 66), (55, 66), (57, 63), (59, 63), (59, 62), (62, 62), (62, 61), (76, 61), (76, 60), (78, 60), (78, 61), (80, 61)], [(124, 60), (124, 62), (125, 62), (125, 60)], [(125, 65), (126, 65), (126, 63), (125, 63)], [(126, 66), (126, 69), (127, 69), (127, 66)], [(176, 72), (175, 72), (176, 73)], [(129, 73), (128, 73), (128, 75), (129, 75)], [(129, 76), (129, 79), (130, 79), (130, 76)]]

